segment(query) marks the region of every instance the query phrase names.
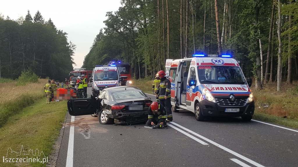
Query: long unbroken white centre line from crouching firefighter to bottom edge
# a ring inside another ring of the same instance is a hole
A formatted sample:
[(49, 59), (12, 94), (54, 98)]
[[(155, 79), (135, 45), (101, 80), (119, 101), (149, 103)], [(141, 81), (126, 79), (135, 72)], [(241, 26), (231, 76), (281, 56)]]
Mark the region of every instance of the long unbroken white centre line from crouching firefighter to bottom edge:
[(243, 160), (245, 160), (245, 161), (247, 161), (247, 162), (253, 164), (254, 166), (257, 166), (257, 167), (264, 167), (263, 165), (261, 165), (261, 164), (259, 164), (259, 163), (257, 163), (257, 162), (254, 162), (253, 160), (251, 160), (251, 159), (249, 159), (249, 158), (246, 158), (246, 157), (244, 157), (244, 156), (238, 154), (237, 152), (234, 152), (234, 151), (232, 151), (232, 150), (230, 150), (230, 149), (228, 149), (228, 148), (226, 148), (226, 147), (224, 147), (224, 146), (222, 146), (222, 145), (220, 145), (220, 144), (215, 143), (215, 142), (212, 141), (212, 140), (209, 140), (208, 138), (205, 138), (204, 136), (199, 135), (198, 133), (195, 133), (195, 132), (193, 132), (193, 131), (187, 129), (186, 127), (183, 127), (183, 126), (181, 126), (181, 125), (179, 125), (179, 124), (176, 124), (175, 122), (170, 122), (170, 123), (173, 124), (173, 125), (176, 125), (176, 126), (178, 126), (178, 127), (180, 127), (180, 128), (182, 128), (182, 129), (184, 129), (184, 130), (186, 130), (186, 131), (188, 131), (188, 132), (190, 132), (190, 133), (192, 133), (192, 134), (195, 135), (195, 136), (198, 136), (199, 138), (201, 138), (201, 139), (203, 139), (203, 140), (205, 140), (205, 141), (207, 141), (207, 142), (209, 142), (209, 143), (211, 143), (211, 144), (213, 144), (213, 145), (215, 145), (215, 146), (217, 146), (217, 147), (219, 147), (219, 148), (225, 150), (226, 152), (229, 152), (229, 153), (235, 155), (236, 157), (239, 157), (239, 158), (241, 158), (241, 159), (243, 159)]

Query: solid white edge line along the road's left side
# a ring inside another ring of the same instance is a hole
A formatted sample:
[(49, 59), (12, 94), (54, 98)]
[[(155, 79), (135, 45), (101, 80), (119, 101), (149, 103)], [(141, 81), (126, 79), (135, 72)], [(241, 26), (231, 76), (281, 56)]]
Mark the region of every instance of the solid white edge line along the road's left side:
[[(70, 122), (75, 122), (75, 116), (72, 116)], [(67, 157), (66, 157), (66, 167), (73, 167), (73, 157), (74, 157), (74, 136), (75, 136), (75, 126), (71, 126), (69, 130)]]

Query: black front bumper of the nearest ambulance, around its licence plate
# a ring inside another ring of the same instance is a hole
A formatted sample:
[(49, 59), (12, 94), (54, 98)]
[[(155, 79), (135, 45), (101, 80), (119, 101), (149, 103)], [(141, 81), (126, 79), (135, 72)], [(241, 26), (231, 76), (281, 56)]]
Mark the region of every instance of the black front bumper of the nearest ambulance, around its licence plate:
[[(246, 103), (244, 106), (230, 107), (219, 106), (217, 103), (203, 100), (200, 102), (200, 108), (203, 116), (253, 116), (254, 102)], [(225, 112), (226, 108), (239, 108), (239, 112)]]

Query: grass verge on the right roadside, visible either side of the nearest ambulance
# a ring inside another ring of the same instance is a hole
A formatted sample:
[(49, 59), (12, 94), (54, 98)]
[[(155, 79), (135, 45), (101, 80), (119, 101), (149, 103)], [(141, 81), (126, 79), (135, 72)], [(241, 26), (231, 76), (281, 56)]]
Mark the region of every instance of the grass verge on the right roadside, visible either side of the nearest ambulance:
[[(153, 80), (135, 80), (133, 85), (142, 89), (145, 93), (152, 94)], [(283, 85), (283, 91), (276, 91), (276, 83), (266, 84), (258, 91), (251, 87), (254, 94), (255, 114), (253, 119), (272, 122), (279, 125), (298, 129), (298, 83)]]

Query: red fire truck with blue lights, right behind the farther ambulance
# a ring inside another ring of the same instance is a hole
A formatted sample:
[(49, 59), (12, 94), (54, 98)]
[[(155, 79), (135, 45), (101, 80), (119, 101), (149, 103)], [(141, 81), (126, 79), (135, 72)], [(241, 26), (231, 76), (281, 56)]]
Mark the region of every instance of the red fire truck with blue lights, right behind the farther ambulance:
[(123, 79), (122, 81), (122, 86), (123, 85), (131, 85), (132, 81), (131, 81), (131, 65), (128, 62), (109, 62), (108, 66), (111, 67), (117, 67), (119, 69), (120, 72), (120, 76)]

